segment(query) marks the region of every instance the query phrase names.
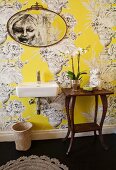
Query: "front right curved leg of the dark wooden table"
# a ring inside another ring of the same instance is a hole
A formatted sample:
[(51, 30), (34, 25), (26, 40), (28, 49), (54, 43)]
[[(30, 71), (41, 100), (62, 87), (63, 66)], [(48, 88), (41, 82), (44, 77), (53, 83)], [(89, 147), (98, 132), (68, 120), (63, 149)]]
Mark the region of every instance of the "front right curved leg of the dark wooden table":
[(104, 119), (105, 119), (106, 112), (107, 112), (108, 102), (107, 102), (106, 95), (100, 95), (100, 97), (101, 97), (101, 101), (102, 101), (102, 105), (103, 105), (103, 112), (102, 112), (102, 117), (101, 117), (101, 122), (100, 122), (100, 129), (98, 130), (98, 132), (99, 132), (100, 142), (101, 142), (103, 148), (105, 150), (107, 150), (108, 147), (105, 145), (104, 139), (103, 139), (103, 136), (102, 136), (102, 127), (103, 127)]

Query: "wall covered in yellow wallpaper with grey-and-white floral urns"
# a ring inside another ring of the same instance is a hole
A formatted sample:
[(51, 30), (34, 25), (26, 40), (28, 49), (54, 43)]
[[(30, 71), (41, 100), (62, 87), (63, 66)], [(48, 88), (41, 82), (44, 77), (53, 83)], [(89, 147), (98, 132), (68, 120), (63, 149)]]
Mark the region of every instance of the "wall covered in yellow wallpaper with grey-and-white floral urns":
[[(8, 34), (6, 24), (16, 12), (26, 9), (36, 1), (0, 1), (0, 131), (11, 130), (17, 121), (30, 121), (33, 130), (65, 129), (67, 119), (64, 109), (64, 95), (41, 99), (41, 114), (36, 114), (36, 105), (29, 104), (31, 98), (18, 98), (15, 87), (20, 82), (36, 81), (40, 70), (43, 81), (56, 81), (60, 86), (70, 86), (66, 71), (71, 70), (71, 53), (80, 48), (89, 50), (81, 56), (81, 86), (89, 82), (91, 70), (99, 68), (103, 87), (115, 87), (115, 44), (114, 5), (104, 1), (42, 0), (45, 7), (59, 13), (66, 21), (68, 32), (58, 44), (49, 48), (29, 47), (14, 41)], [(87, 3), (88, 2), (88, 3)], [(57, 5), (56, 5), (57, 4)], [(98, 15), (97, 15), (98, 14)], [(75, 68), (77, 68), (75, 61)], [(108, 98), (109, 109), (106, 125), (116, 124), (115, 96)], [(84, 107), (83, 107), (84, 104)], [(75, 122), (92, 119), (93, 98), (77, 98)], [(99, 104), (99, 116), (101, 105)]]

